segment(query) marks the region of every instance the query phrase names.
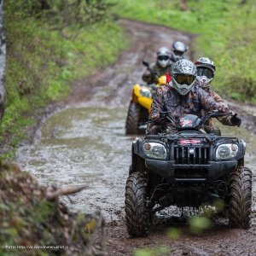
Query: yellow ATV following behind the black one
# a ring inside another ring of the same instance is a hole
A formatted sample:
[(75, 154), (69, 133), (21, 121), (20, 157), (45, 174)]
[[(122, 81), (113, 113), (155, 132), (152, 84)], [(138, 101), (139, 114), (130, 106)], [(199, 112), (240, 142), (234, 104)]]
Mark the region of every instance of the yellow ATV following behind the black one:
[[(143, 65), (149, 67), (148, 61), (143, 61)], [(157, 79), (157, 84), (135, 84), (133, 86), (125, 124), (126, 134), (145, 133), (148, 111), (151, 108), (154, 93), (160, 85), (166, 84), (166, 76), (160, 76)]]

